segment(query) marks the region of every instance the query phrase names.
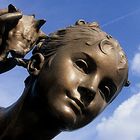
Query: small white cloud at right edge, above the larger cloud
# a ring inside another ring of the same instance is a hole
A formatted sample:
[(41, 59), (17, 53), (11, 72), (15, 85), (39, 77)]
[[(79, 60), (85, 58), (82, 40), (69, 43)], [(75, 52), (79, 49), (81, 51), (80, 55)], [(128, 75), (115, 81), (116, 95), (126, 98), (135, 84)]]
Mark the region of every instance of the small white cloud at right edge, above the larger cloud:
[(131, 64), (133, 73), (140, 74), (140, 53), (136, 53)]

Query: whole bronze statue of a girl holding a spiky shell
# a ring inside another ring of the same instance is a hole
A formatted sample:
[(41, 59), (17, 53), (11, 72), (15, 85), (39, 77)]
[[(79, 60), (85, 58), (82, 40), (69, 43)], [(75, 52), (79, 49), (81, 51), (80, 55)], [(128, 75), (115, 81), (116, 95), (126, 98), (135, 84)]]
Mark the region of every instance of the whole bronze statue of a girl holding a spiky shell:
[[(21, 19), (21, 12), (12, 5), (8, 11), (0, 11), (0, 23), (5, 26), (0, 32), (0, 62), (4, 67), (0, 71), (20, 65), (29, 72), (19, 100), (0, 109), (1, 140), (48, 140), (61, 131), (81, 128), (128, 86), (126, 56), (119, 43), (96, 22), (79, 20), (48, 36), (38, 33), (29, 22), (31, 28), (24, 41), (21, 35), (27, 25)], [(31, 49), (32, 57), (24, 59)]]

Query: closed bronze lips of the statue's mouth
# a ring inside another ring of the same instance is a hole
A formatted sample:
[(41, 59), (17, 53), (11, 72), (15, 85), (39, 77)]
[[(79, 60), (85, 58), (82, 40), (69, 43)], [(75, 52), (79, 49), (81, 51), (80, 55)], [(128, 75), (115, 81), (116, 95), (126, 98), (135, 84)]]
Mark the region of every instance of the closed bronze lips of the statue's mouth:
[(84, 104), (77, 98), (73, 97), (70, 92), (67, 91), (66, 95), (71, 100), (70, 106), (73, 109), (73, 111), (76, 113), (76, 115), (83, 114), (85, 108)]

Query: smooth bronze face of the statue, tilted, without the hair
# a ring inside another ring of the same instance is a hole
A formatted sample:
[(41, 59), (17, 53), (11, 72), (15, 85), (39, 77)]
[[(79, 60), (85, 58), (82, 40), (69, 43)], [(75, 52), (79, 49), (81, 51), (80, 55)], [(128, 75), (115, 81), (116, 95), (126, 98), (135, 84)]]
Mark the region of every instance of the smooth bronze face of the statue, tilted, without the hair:
[(118, 71), (119, 55), (105, 44), (82, 41), (60, 47), (43, 65), (38, 92), (62, 129), (74, 130), (91, 122), (122, 88), (126, 72)]

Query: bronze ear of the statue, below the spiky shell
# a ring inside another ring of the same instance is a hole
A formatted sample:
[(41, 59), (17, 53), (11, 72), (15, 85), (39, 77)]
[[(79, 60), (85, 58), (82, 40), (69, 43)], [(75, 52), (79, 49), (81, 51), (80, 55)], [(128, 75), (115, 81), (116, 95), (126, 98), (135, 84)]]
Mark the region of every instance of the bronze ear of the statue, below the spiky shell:
[(41, 53), (34, 54), (29, 60), (27, 70), (31, 75), (38, 75), (43, 64), (44, 64), (44, 56)]

